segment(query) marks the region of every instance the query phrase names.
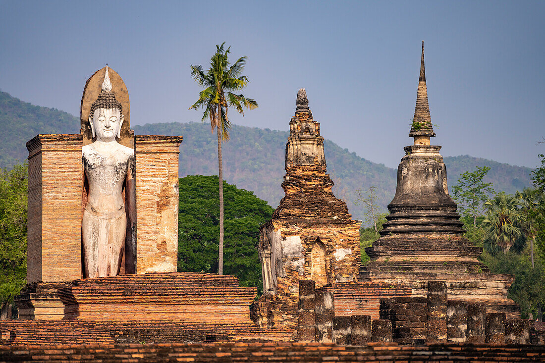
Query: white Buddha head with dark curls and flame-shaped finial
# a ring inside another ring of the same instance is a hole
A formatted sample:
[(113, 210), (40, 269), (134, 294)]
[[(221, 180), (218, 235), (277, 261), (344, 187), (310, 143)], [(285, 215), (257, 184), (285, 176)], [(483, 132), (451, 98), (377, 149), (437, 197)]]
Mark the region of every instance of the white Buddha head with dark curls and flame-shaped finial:
[(123, 124), (123, 108), (116, 95), (112, 91), (112, 83), (108, 76), (108, 66), (102, 82), (102, 91), (99, 97), (91, 105), (89, 112), (89, 124), (93, 138), (96, 135), (97, 141), (116, 141), (121, 136), (121, 125)]

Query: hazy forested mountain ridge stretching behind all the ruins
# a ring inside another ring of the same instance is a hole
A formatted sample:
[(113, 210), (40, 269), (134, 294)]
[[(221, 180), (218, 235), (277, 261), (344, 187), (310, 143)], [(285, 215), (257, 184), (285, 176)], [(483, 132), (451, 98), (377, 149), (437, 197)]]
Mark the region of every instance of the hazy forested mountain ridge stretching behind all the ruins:
[[(79, 118), (56, 108), (34, 106), (0, 92), (0, 167), (9, 167), (27, 158), (26, 142), (37, 134), (80, 132)], [(180, 177), (217, 174), (217, 139), (206, 123), (155, 123), (134, 125), (135, 134), (178, 135), (184, 141), (180, 147)], [(286, 125), (288, 129), (288, 125)], [(223, 173), (225, 180), (239, 188), (251, 190), (273, 207), (284, 192), (284, 158), (288, 131), (250, 128), (233, 125), (231, 140), (223, 145)], [(364, 210), (356, 205), (355, 191), (376, 186), (378, 203), (386, 211), (396, 190), (397, 170), (368, 161), (350, 153), (330, 140), (324, 141), (328, 173), (335, 181), (334, 192), (344, 199), (354, 219), (363, 219)], [(399, 159), (403, 146), (399, 146)], [(461, 173), (476, 166), (488, 166), (486, 181), (496, 191), (514, 193), (531, 185), (531, 168), (501, 164), (493, 160), (468, 155), (444, 158), (449, 189)]]

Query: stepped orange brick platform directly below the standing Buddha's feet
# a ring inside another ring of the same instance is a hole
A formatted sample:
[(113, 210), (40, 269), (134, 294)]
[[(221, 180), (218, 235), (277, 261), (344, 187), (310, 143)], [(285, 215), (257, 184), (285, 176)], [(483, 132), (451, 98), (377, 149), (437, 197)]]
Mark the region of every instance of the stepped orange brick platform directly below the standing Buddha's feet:
[(59, 289), (66, 319), (144, 319), (251, 324), (255, 287), (235, 276), (152, 273), (76, 280)]

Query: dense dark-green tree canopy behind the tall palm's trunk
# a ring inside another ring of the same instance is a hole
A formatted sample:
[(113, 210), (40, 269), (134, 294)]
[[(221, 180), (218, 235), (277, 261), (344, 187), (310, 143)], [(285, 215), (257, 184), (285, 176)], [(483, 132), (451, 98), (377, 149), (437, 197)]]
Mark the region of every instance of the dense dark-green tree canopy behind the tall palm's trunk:
[[(219, 196), (216, 176), (180, 179), (178, 271), (217, 273)], [(223, 181), (225, 199), (224, 273), (236, 275), (241, 286), (261, 292), (261, 263), (257, 252), (259, 226), (272, 216), (267, 202)]]

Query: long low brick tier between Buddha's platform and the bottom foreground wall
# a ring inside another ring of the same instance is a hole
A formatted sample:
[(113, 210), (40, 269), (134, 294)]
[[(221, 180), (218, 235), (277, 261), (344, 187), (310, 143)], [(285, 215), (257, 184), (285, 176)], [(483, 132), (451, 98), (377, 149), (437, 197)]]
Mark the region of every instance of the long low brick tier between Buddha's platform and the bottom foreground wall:
[(294, 330), (244, 323), (178, 320), (12, 320), (0, 322), (0, 346), (98, 343), (292, 341)]

